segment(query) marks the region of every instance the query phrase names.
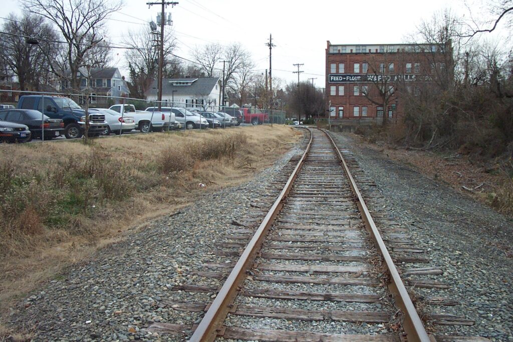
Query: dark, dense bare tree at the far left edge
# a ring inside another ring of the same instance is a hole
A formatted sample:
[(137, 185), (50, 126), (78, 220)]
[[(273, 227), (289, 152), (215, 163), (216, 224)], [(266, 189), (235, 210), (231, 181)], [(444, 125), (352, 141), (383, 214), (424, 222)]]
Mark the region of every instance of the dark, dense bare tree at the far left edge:
[[(45, 55), (53, 55), (57, 46), (56, 35), (45, 19), (33, 14), (17, 17), (10, 14), (0, 34), (0, 58), (17, 76), (21, 90), (41, 90), (48, 84), (50, 62)], [(25, 37), (37, 37), (38, 45), (27, 44)]]

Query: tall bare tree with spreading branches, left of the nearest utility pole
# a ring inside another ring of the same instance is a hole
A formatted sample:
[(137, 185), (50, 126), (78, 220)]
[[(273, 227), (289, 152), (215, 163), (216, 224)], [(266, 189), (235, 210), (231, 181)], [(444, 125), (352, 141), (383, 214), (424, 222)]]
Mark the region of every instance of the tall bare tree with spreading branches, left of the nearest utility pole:
[(90, 63), (95, 48), (105, 46), (105, 19), (120, 10), (123, 3), (108, 0), (22, 0), (22, 3), (30, 12), (47, 18), (61, 31), (67, 43), (62, 54), (65, 58), (57, 61), (52, 71), (69, 79), (71, 87), (78, 89), (78, 69)]

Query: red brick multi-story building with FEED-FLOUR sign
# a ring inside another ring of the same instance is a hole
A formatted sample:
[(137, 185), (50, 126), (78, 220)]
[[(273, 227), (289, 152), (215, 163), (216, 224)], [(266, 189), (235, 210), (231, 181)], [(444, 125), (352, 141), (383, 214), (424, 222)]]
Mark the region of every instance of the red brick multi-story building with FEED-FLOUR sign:
[[(332, 45), (326, 48), (326, 95), (331, 119), (396, 122), (408, 96), (445, 69), (439, 45)], [(386, 113), (386, 114), (385, 114)]]

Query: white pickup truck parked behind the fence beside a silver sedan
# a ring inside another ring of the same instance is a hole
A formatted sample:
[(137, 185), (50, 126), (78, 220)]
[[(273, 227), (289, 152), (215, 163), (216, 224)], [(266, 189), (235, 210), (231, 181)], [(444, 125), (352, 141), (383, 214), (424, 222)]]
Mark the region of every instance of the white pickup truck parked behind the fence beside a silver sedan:
[(114, 105), (110, 106), (109, 109), (127, 116), (133, 116), (135, 129), (143, 133), (148, 133), (149, 131), (162, 132), (173, 129), (177, 125), (173, 113), (135, 110), (134, 105)]

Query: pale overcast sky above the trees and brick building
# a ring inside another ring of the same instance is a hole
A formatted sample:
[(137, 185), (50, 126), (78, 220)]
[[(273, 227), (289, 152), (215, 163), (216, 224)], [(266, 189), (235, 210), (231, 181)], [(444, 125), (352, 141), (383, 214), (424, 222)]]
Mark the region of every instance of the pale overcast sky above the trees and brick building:
[[(87, 0), (84, 0), (87, 1)], [(474, 0), (472, 6), (486, 6), (487, 1)], [(316, 87), (324, 87), (326, 41), (332, 44), (394, 44), (403, 43), (416, 31), (422, 19), (450, 8), (466, 15), (463, 0), (178, 0), (179, 5), (167, 8), (172, 13), (177, 38), (176, 54), (190, 57), (191, 48), (211, 42), (240, 42), (248, 49), (257, 68), (269, 68), (269, 48), (265, 45), (272, 34), (272, 75), (285, 82), (297, 82), (297, 68), (304, 64), (302, 81), (314, 79)], [(0, 16), (22, 13), (17, 0), (2, 0)], [(128, 30), (136, 31), (156, 21), (160, 6), (148, 8), (146, 0), (125, 0), (125, 7), (108, 21), (114, 44), (121, 44)], [(0, 23), (3, 19), (0, 19)], [(114, 51), (114, 66), (126, 72), (124, 50)], [(222, 64), (220, 65), (222, 68)], [(311, 81), (310, 81), (311, 82)]]

